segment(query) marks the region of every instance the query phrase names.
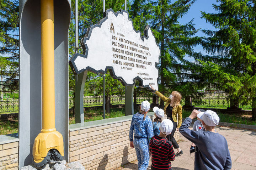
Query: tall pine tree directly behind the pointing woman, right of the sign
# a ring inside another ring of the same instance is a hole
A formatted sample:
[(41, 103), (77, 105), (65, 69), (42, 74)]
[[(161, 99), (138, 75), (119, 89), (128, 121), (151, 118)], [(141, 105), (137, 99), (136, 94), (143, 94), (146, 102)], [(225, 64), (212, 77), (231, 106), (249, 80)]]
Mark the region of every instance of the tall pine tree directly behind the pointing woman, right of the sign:
[[(159, 91), (169, 95), (171, 91), (180, 91), (183, 96), (191, 96), (197, 102), (202, 94), (197, 93), (206, 85), (206, 81), (199, 74), (200, 66), (189, 62), (186, 57), (200, 58), (200, 53), (194, 52), (201, 38), (194, 36), (198, 29), (194, 27), (193, 19), (187, 24), (180, 24), (178, 20), (185, 15), (195, 0), (149, 1), (148, 8), (156, 40), (159, 42), (160, 56), (160, 84)], [(164, 101), (161, 100), (161, 106)]]

